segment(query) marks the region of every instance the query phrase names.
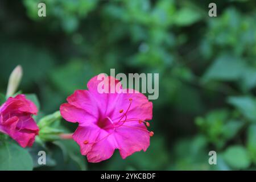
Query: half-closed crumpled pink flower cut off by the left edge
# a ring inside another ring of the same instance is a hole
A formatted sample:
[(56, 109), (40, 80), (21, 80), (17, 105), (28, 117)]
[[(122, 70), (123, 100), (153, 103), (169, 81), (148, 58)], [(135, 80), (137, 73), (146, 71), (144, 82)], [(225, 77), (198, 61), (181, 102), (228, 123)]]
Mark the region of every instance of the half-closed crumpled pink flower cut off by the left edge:
[(38, 110), (23, 94), (9, 97), (0, 107), (0, 131), (16, 140), (22, 147), (32, 146), (39, 129), (32, 114)]

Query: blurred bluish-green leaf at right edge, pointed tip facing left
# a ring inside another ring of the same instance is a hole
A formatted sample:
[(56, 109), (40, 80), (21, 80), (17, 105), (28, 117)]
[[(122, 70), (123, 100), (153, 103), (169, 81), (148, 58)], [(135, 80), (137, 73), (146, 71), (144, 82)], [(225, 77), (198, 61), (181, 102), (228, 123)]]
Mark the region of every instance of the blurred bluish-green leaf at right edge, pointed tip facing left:
[(256, 100), (250, 96), (229, 97), (228, 103), (235, 106), (250, 121), (256, 121)]

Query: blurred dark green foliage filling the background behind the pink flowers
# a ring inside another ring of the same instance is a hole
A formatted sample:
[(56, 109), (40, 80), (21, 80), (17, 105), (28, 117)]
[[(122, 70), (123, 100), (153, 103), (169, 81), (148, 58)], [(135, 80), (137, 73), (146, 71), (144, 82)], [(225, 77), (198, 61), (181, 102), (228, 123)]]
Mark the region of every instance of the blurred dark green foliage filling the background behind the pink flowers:
[(48, 166), (34, 169), (255, 169), (255, 1), (217, 1), (212, 18), (203, 0), (46, 0), (44, 18), (39, 2), (0, 2), (0, 92), (20, 64), (20, 88), (39, 96), (42, 116), (110, 68), (159, 73), (159, 98), (146, 152), (89, 164), (72, 140), (37, 143), (29, 152), (36, 160), (43, 147)]

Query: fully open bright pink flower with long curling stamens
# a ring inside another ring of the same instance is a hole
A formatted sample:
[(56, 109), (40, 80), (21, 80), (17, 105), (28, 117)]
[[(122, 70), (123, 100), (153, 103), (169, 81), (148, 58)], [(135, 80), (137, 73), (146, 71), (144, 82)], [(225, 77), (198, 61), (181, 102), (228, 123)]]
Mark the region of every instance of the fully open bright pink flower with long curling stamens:
[[(99, 75), (102, 76), (102, 75)], [(104, 77), (111, 86), (120, 85), (113, 77)], [(78, 122), (73, 139), (80, 145), (89, 162), (109, 159), (118, 149), (123, 159), (137, 151), (146, 151), (150, 136), (144, 125), (152, 119), (152, 102), (142, 93), (99, 93), (102, 80), (93, 77), (88, 90), (76, 90), (60, 106), (60, 113), (69, 122)], [(109, 89), (110, 90), (110, 89)], [(131, 90), (130, 90), (131, 91)]]

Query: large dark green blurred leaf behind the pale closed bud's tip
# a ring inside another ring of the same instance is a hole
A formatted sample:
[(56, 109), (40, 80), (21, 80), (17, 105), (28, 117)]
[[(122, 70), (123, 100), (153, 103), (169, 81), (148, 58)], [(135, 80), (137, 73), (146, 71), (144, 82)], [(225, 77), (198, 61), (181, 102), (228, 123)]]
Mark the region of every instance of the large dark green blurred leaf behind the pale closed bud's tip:
[(28, 42), (19, 42), (18, 40), (3, 42), (5, 41), (0, 42), (0, 68), (3, 68), (0, 76), (4, 80), (8, 80), (16, 65), (21, 65), (24, 76), (20, 88), (27, 88), (35, 82), (40, 83), (53, 68), (55, 59), (47, 48), (33, 46)]

